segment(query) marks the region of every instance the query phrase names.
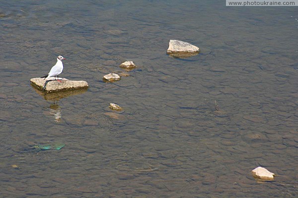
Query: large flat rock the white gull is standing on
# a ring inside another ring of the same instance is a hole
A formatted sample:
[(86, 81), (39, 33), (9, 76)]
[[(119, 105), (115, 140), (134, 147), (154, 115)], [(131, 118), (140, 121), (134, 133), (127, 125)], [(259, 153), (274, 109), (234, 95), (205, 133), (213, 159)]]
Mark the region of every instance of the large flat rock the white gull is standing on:
[(32, 78), (30, 82), (39, 90), (43, 90), (45, 83), (48, 81), (43, 90), (47, 93), (88, 88), (86, 81), (71, 81), (66, 78), (59, 78), (59, 80), (62, 80), (62, 82), (58, 82), (54, 77), (46, 78), (45, 80), (43, 78)]

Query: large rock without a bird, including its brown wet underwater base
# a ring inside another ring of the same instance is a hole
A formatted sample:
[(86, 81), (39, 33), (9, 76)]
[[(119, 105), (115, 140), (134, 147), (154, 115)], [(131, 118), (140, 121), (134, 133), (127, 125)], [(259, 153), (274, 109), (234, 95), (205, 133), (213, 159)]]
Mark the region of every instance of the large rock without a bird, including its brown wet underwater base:
[(197, 55), (200, 49), (184, 41), (170, 40), (169, 48), (166, 52), (174, 57), (189, 57)]

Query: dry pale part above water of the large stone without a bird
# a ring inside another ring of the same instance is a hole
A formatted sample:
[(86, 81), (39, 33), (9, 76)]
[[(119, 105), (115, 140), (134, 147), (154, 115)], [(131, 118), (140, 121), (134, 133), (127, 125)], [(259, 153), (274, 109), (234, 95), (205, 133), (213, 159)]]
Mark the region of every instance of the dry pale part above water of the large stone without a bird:
[(200, 49), (184, 41), (170, 40), (167, 53), (199, 53)]

